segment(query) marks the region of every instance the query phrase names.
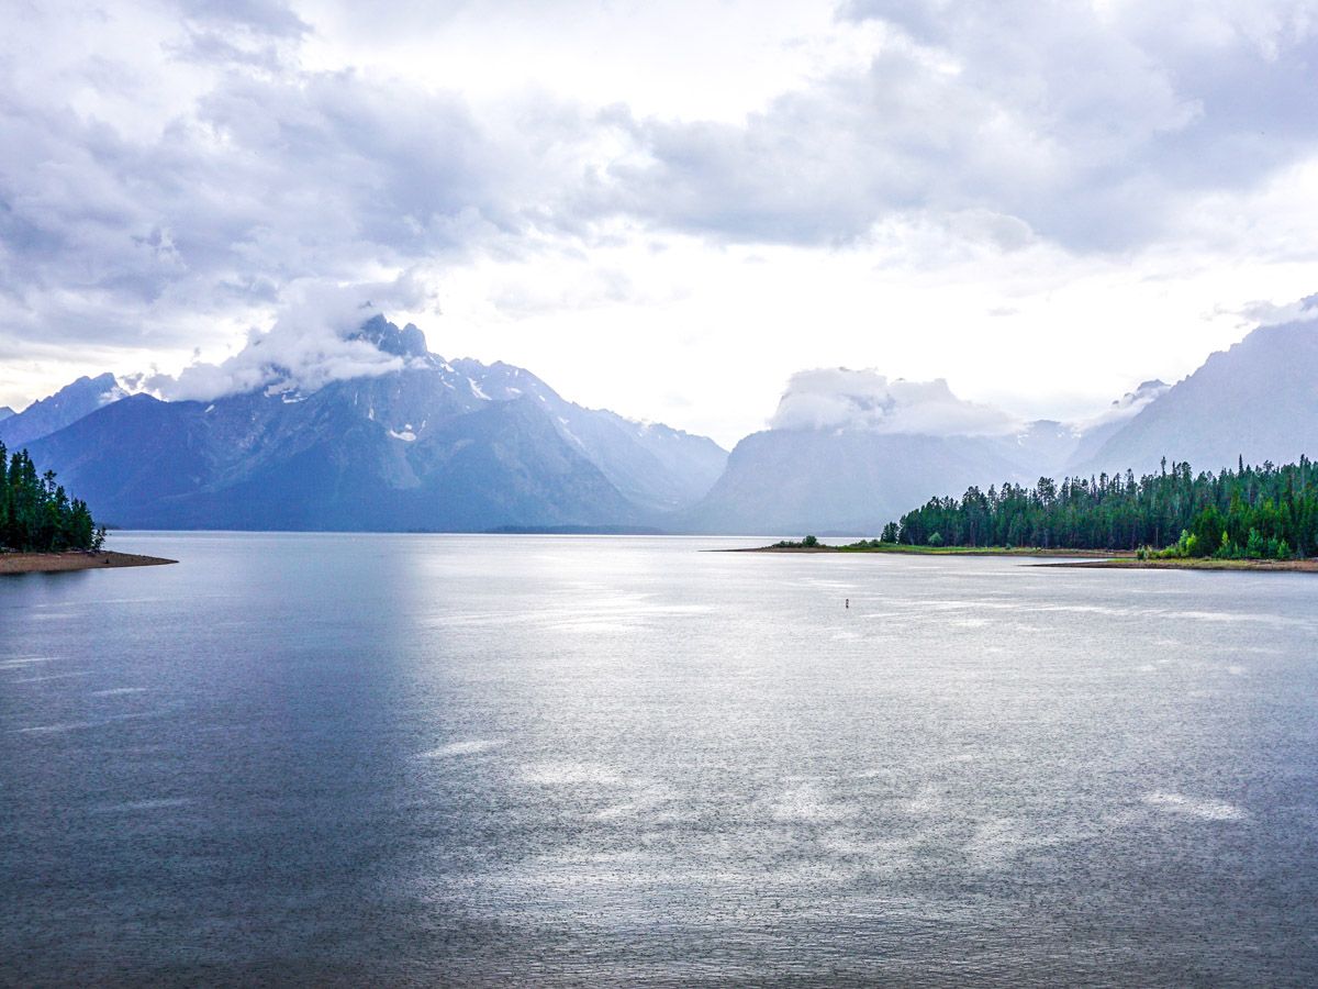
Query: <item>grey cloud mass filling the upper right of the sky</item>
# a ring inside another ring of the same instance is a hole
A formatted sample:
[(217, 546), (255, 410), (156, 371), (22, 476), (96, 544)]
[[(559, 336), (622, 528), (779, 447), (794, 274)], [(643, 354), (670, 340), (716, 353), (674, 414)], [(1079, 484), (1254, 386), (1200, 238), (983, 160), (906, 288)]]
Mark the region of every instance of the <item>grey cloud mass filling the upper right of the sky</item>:
[(602, 203), (729, 240), (830, 243), (894, 215), (998, 218), (1128, 249), (1199, 196), (1256, 187), (1318, 140), (1309, 1), (1156, 5), (857, 0), (887, 29), (863, 67), (745, 124), (618, 119)]

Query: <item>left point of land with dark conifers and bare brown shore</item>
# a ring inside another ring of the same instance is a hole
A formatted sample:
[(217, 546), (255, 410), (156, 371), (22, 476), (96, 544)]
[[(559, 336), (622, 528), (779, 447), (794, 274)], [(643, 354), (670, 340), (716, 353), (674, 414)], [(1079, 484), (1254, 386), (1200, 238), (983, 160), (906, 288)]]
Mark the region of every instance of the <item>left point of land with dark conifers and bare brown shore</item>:
[(178, 560), (111, 553), (105, 529), (79, 498), (70, 498), (53, 471), (38, 473), (26, 450), (12, 456), (0, 443), (0, 574), (150, 567)]

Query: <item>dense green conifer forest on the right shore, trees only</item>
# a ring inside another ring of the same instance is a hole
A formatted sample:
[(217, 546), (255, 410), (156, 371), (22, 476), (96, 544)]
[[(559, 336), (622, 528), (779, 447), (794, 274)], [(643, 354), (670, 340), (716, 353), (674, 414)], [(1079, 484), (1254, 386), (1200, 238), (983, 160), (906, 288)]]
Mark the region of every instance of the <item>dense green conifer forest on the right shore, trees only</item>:
[(1189, 463), (1139, 480), (1040, 477), (1033, 488), (970, 488), (932, 498), (884, 531), (887, 541), (946, 546), (1118, 550), (1172, 546), (1173, 555), (1280, 558), (1318, 554), (1318, 469), (1298, 464), (1194, 475)]

